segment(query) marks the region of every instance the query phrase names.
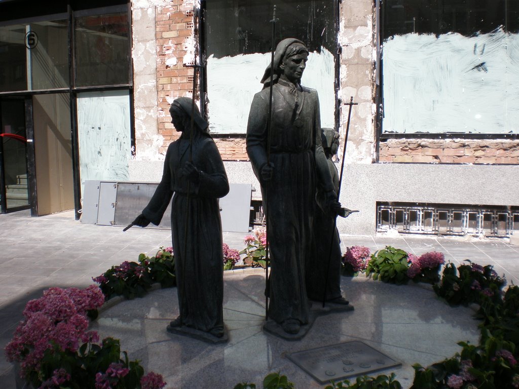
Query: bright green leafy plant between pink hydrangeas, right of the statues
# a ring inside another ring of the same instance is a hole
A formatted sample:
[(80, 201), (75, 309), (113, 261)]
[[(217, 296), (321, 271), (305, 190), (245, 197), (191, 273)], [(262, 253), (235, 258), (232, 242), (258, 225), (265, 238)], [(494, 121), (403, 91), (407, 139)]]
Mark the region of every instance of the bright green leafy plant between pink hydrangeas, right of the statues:
[(409, 281), (407, 269), (407, 253), (386, 246), (371, 255), (371, 260), (367, 263), (366, 275), (372, 275), (374, 280), (405, 284)]

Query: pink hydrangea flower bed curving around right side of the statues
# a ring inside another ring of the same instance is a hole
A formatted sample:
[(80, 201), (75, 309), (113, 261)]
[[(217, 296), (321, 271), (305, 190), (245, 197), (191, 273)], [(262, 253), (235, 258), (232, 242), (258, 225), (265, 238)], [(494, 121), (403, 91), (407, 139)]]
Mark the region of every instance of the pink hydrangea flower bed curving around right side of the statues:
[[(481, 319), (477, 345), (459, 342), (461, 352), (432, 366), (415, 364), (411, 389), (506, 389), (519, 388), (519, 286), (504, 291), (506, 279), (492, 266), (466, 261), (458, 268), (447, 263), (440, 277), (444, 256), (430, 252), (417, 257), (401, 249), (387, 246), (369, 254), (363, 246), (348, 247), (343, 256), (343, 275), (366, 273), (374, 280), (406, 284), (408, 281), (433, 285), (435, 293), (450, 305), (477, 304), (476, 317)], [(267, 376), (268, 377), (268, 376)], [(284, 376), (285, 386), (293, 384)], [(255, 388), (239, 384), (235, 389)], [(265, 386), (266, 387), (266, 386)], [(277, 386), (272, 386), (277, 387)], [(326, 386), (325, 389), (401, 389), (390, 376), (357, 377)]]

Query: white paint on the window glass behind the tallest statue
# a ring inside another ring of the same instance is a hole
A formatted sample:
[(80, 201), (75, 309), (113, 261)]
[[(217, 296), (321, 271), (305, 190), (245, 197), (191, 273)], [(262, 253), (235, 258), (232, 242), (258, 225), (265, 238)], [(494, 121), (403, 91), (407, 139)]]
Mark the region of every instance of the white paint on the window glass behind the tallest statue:
[[(270, 53), (239, 54), (207, 61), (209, 127), (213, 133), (245, 133), (254, 94), (261, 91), (261, 78), (270, 63)], [(333, 54), (309, 54), (301, 84), (316, 89), (321, 106), (321, 126), (335, 127), (335, 62)]]

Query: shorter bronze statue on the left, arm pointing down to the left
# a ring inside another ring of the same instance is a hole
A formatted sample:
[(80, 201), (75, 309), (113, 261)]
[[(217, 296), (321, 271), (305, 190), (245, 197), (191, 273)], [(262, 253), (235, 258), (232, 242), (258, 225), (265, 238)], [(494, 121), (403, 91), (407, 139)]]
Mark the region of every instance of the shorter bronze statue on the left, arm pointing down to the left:
[(180, 315), (168, 329), (188, 327), (222, 338), (223, 252), (218, 198), (227, 195), (229, 183), (208, 123), (197, 106), (191, 118), (192, 104), (192, 99), (185, 97), (171, 104), (171, 122), (182, 135), (169, 145), (160, 184), (134, 224), (158, 225), (173, 197), (171, 234)]

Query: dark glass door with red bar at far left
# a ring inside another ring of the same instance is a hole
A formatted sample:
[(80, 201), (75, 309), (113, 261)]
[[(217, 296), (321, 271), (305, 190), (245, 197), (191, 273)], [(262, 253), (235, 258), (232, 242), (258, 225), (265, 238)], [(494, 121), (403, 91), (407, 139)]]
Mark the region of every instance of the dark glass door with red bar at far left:
[(23, 99), (0, 99), (0, 124), (0, 205), (6, 213), (29, 207)]

